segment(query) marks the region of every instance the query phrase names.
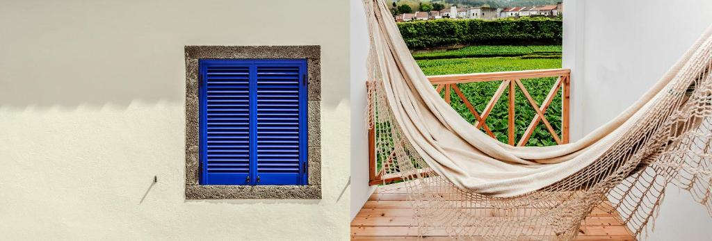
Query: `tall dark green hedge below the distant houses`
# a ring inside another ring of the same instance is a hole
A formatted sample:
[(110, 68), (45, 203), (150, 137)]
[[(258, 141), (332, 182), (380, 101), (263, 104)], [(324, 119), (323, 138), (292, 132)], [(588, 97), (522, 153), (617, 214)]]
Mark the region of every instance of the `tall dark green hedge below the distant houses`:
[(398, 23), (410, 49), (450, 45), (559, 45), (562, 21), (553, 18), (438, 19)]

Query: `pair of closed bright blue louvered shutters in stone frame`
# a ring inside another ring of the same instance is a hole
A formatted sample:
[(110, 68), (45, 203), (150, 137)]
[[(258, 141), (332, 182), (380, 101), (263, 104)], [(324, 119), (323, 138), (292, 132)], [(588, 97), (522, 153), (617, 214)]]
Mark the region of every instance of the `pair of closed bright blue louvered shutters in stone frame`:
[(306, 185), (305, 60), (201, 60), (202, 185)]

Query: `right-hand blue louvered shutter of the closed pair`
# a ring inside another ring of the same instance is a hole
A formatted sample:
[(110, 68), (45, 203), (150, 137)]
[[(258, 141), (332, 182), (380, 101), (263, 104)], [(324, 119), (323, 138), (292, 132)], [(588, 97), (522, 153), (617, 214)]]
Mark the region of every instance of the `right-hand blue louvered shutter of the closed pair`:
[(306, 182), (304, 69), (305, 61), (257, 65), (258, 184)]

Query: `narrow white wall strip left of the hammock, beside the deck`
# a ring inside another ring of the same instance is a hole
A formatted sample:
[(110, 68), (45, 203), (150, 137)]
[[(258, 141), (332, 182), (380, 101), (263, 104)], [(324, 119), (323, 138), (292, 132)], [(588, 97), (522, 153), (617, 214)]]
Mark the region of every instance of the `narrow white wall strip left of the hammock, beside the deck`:
[(368, 186), (368, 136), (366, 111), (366, 58), (368, 29), (362, 1), (351, 2), (351, 219), (375, 190)]

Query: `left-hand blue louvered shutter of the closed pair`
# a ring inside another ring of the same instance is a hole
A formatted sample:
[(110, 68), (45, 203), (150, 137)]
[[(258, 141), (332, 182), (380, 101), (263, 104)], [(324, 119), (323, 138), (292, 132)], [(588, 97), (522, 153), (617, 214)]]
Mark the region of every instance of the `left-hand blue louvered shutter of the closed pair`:
[(250, 66), (201, 66), (203, 184), (245, 185), (250, 174)]

